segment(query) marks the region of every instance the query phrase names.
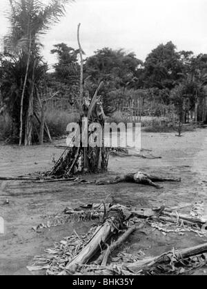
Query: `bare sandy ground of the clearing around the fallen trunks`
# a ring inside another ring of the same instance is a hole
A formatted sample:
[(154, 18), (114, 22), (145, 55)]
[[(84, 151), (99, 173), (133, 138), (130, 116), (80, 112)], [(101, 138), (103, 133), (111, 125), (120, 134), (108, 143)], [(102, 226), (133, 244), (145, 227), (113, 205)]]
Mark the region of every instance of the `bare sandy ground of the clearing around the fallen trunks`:
[[(58, 159), (61, 150), (52, 145), (18, 148), (0, 146), (0, 176), (25, 175), (35, 171), (49, 170), (52, 159)], [(79, 206), (80, 203), (100, 202), (106, 199), (123, 205), (140, 207), (178, 206), (195, 201), (205, 201), (207, 175), (207, 129), (186, 132), (184, 137), (175, 134), (142, 133), (141, 146), (152, 150), (161, 159), (140, 159), (138, 157), (110, 157), (109, 172), (113, 177), (124, 172), (141, 170), (155, 175), (180, 176), (181, 183), (164, 183), (157, 190), (133, 183), (119, 183), (110, 186), (74, 185), (64, 183), (26, 183), (0, 181), (0, 216), (5, 219), (6, 231), (0, 235), (0, 275), (30, 275), (26, 266), (34, 255), (41, 255), (45, 248), (55, 241), (72, 234), (75, 229), (80, 235), (86, 232), (91, 223), (66, 223), (64, 226), (34, 232), (33, 226), (43, 221), (43, 216), (61, 212), (66, 206)], [(145, 154), (146, 151), (143, 151)], [(9, 205), (3, 205), (6, 198)], [(189, 208), (188, 208), (189, 209)], [(186, 248), (207, 241), (195, 233), (184, 236), (168, 234), (146, 226), (135, 232), (124, 244), (128, 252), (143, 250), (146, 256), (159, 255), (172, 248)], [(197, 274), (206, 275), (206, 268)]]

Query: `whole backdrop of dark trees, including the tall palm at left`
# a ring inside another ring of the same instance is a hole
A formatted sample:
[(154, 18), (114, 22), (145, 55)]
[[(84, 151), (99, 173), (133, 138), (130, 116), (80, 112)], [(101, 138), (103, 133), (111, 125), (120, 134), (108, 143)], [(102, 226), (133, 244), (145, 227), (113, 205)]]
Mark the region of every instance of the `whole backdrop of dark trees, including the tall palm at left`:
[[(43, 99), (57, 93), (74, 105), (80, 98), (79, 50), (66, 43), (55, 45), (51, 53), (57, 56), (57, 64), (50, 72), (39, 41), (63, 16), (68, 2), (51, 0), (46, 6), (38, 0), (10, 0), (10, 32), (0, 55), (0, 114), (9, 115), (10, 140), (19, 145), (37, 141), (37, 114)], [(84, 92), (90, 97), (104, 81), (100, 93), (109, 116), (124, 99), (141, 96), (146, 106), (152, 101), (158, 107), (175, 106), (180, 123), (186, 121), (190, 110), (195, 112), (195, 121), (207, 120), (199, 109), (206, 96), (207, 54), (179, 52), (171, 41), (152, 50), (145, 61), (134, 52), (103, 48), (84, 60), (83, 70)]]

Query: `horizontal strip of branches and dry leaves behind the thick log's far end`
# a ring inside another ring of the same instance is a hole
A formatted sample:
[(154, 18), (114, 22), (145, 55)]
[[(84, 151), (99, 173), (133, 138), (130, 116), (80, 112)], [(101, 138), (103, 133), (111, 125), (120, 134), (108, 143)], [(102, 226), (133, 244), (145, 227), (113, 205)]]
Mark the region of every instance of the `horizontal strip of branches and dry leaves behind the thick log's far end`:
[[(128, 208), (119, 204), (111, 203), (90, 203), (81, 205), (79, 208), (65, 208), (61, 214), (45, 217), (45, 221), (38, 226), (34, 226), (35, 231), (43, 228), (62, 226), (69, 221), (72, 223), (98, 220), (103, 222), (108, 210), (121, 210), (124, 212), (125, 220), (132, 220), (132, 226), (141, 220), (146, 220), (152, 228), (165, 233), (175, 232), (195, 232), (199, 236), (206, 235), (206, 219), (193, 217), (191, 215), (178, 213), (174, 208)], [(134, 222), (134, 223), (133, 223)], [(176, 228), (168, 228), (168, 227)], [(183, 235), (183, 234), (181, 234)]]

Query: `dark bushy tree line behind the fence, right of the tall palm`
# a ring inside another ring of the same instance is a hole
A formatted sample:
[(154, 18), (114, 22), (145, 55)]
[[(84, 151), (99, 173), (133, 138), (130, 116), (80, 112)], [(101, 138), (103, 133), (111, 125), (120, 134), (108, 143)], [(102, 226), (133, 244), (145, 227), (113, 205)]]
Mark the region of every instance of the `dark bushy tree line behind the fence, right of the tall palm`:
[[(63, 83), (63, 90), (66, 85), (72, 95), (78, 94), (78, 51), (64, 43), (55, 47), (58, 50), (52, 53), (58, 54), (58, 63), (52, 75)], [(168, 42), (152, 50), (143, 62), (133, 52), (103, 48), (86, 58), (84, 75), (85, 90), (91, 96), (98, 83), (104, 81), (101, 94), (108, 114), (117, 110), (124, 98), (140, 95), (146, 103), (153, 100), (157, 106), (174, 104), (180, 120), (186, 121), (185, 110), (195, 110), (206, 95), (207, 54), (177, 52), (176, 46)], [(195, 121), (201, 121), (199, 112), (195, 117)]]

